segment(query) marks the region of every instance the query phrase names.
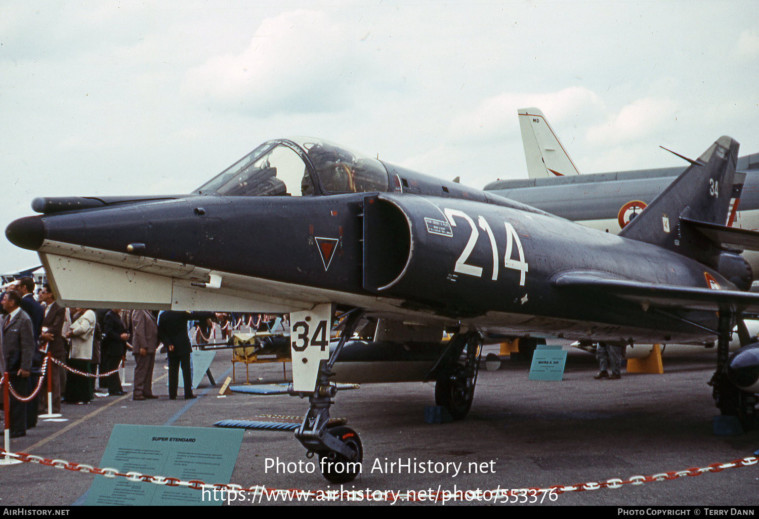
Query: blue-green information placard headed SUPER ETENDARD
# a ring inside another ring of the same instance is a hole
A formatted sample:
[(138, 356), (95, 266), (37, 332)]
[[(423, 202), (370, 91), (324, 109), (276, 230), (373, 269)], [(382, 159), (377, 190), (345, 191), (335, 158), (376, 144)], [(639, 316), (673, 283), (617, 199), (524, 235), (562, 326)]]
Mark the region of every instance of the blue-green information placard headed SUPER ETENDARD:
[[(175, 477), (182, 481), (229, 483), (242, 443), (243, 429), (113, 426), (101, 468), (121, 473)], [(221, 505), (213, 492), (184, 486), (133, 482), (96, 476), (84, 505)]]

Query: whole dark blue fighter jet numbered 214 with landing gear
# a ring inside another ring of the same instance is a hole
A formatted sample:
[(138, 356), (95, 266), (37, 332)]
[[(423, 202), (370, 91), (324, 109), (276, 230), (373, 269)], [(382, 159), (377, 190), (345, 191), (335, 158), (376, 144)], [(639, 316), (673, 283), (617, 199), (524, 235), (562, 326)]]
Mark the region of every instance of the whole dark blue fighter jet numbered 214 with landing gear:
[(488, 334), (716, 341), (716, 405), (751, 426), (757, 346), (727, 349), (759, 311), (740, 255), (759, 233), (724, 225), (738, 149), (720, 137), (618, 236), (310, 138), (263, 143), (186, 195), (38, 198), (41, 215), (5, 233), (39, 252), (68, 305), (291, 313), (291, 393), (310, 399), (296, 437), (349, 481), (339, 464), (361, 461), (361, 441), (327, 424), (331, 370), (356, 333), (384, 360), (431, 355), (455, 418)]

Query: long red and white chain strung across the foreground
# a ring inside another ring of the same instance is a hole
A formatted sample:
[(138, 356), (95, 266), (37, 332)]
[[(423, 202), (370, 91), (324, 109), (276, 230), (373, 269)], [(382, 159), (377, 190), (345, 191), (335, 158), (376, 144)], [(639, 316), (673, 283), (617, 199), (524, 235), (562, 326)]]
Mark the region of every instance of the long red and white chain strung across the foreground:
[[(282, 492), (299, 492), (298, 495), (301, 495), (303, 498), (317, 498), (320, 494), (324, 495), (323, 490), (300, 490), (300, 489), (270, 489), (263, 485), (254, 485), (254, 486), (241, 486), (241, 485), (235, 485), (234, 483), (204, 483), (200, 480), (190, 480), (190, 481), (183, 481), (176, 477), (162, 477), (162, 476), (149, 476), (147, 474), (131, 471), (127, 473), (121, 473), (115, 468), (97, 468), (93, 467), (92, 465), (87, 464), (77, 464), (77, 463), (71, 463), (69, 461), (65, 460), (51, 460), (48, 458), (42, 458), (41, 456), (34, 456), (34, 455), (28, 455), (24, 452), (8, 452), (5, 450), (0, 449), (0, 455), (5, 455), (9, 458), (15, 458), (18, 461), (24, 461), (26, 463), (37, 463), (41, 465), (46, 465), (47, 467), (56, 467), (56, 468), (62, 468), (66, 470), (73, 470), (74, 472), (83, 472), (83, 473), (91, 473), (91, 474), (99, 474), (101, 476), (105, 477), (124, 477), (129, 481), (139, 482), (144, 481), (145, 483), (156, 483), (156, 485), (168, 485), (168, 486), (184, 486), (188, 489), (194, 489), (194, 490), (201, 490), (201, 489), (216, 489), (221, 490), (225, 489), (232, 492), (254, 492), (255, 497), (259, 496), (274, 496), (274, 495), (281, 495)], [(524, 497), (524, 496), (537, 496), (542, 494), (543, 497), (545, 495), (558, 495), (563, 494), (564, 492), (584, 492), (585, 490), (599, 490), (599, 489), (619, 489), (622, 486), (626, 484), (630, 485), (642, 485), (644, 483), (653, 483), (654, 481), (666, 481), (666, 480), (676, 480), (679, 477), (682, 476), (701, 476), (701, 474), (711, 472), (722, 472), (725, 469), (729, 468), (735, 468), (735, 467), (748, 467), (750, 465), (757, 464), (757, 461), (759, 459), (751, 456), (749, 458), (742, 458), (738, 460), (729, 461), (728, 463), (713, 463), (710, 464), (708, 467), (698, 468), (698, 467), (691, 467), (685, 470), (679, 470), (679, 471), (672, 471), (672, 472), (663, 472), (658, 474), (653, 474), (653, 476), (632, 476), (628, 480), (620, 480), (620, 479), (612, 479), (612, 480), (606, 480), (606, 481), (598, 481), (598, 482), (590, 482), (590, 483), (578, 483), (575, 485), (554, 485), (550, 486), (545, 489), (540, 489), (537, 487), (534, 488), (527, 488), (527, 489), (501, 489), (500, 487), (498, 489), (493, 490), (486, 490), (486, 491), (479, 491), (482, 494), (490, 493), (490, 495), (493, 497), (493, 499), (502, 499), (502, 498), (508, 498), (509, 496), (515, 497)], [(341, 492), (339, 491), (331, 491), (336, 492), (335, 499), (341, 499), (344, 497), (347, 500), (350, 500), (351, 498), (351, 491), (343, 491), (342, 494), (345, 494), (345, 496), (342, 496)], [(392, 491), (379, 491), (382, 492), (385, 496), (384, 499), (386, 500), (392, 500), (396, 501), (398, 499), (402, 501), (442, 501), (444, 499), (445, 492), (431, 492), (429, 497), (425, 499), (420, 499), (417, 495), (417, 492), (392, 492)], [(450, 493), (450, 492), (449, 492)], [(450, 495), (447, 495), (445, 499), (450, 499)], [(555, 501), (556, 499), (551, 499), (551, 501)]]

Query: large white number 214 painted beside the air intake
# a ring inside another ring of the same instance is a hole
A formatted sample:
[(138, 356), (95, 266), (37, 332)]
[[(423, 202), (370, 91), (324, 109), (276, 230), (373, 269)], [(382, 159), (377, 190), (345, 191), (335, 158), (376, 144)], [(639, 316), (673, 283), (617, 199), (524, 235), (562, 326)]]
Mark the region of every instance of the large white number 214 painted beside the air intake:
[[(474, 225), (474, 220), (471, 219), (468, 214), (463, 211), (459, 211), (458, 209), (444, 209), (444, 212), (446, 213), (446, 218), (450, 222), (451, 227), (456, 226), (455, 217), (465, 219), (471, 227), (469, 241), (464, 247), (464, 251), (461, 253), (461, 256), (458, 256), (456, 265), (453, 268), (453, 272), (474, 275), (477, 278), (482, 277), (482, 267), (469, 265), (466, 263), (467, 259), (469, 259), (469, 255), (472, 253), (472, 250), (474, 250), (474, 245), (477, 244), (477, 238), (480, 236), (480, 231), (477, 231), (477, 226)], [(496, 279), (498, 279), (498, 269), (500, 263), (498, 260), (496, 237), (493, 235), (493, 229), (490, 228), (490, 225), (482, 216), (477, 217), (477, 224), (483, 231), (487, 232), (487, 237), (490, 238), (490, 250), (493, 251), (492, 279), (493, 281), (496, 281)], [(519, 285), (524, 286), (524, 276), (526, 272), (528, 272), (528, 264), (526, 261), (524, 261), (524, 249), (522, 248), (521, 241), (519, 241), (519, 236), (514, 230), (514, 227), (509, 222), (503, 222), (503, 225), (506, 229), (506, 252), (503, 256), (503, 266), (505, 269), (518, 270), (521, 273), (519, 276)], [(517, 246), (519, 259), (512, 259), (512, 250), (514, 248), (513, 244), (516, 244)]]

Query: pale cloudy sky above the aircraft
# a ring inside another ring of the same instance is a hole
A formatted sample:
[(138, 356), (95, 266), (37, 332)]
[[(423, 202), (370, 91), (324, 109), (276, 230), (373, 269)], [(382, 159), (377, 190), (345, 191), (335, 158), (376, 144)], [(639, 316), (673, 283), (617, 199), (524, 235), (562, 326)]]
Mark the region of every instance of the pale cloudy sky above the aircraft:
[[(582, 173), (759, 152), (759, 2), (0, 2), (0, 225), (34, 197), (196, 189), (308, 135), (481, 188), (517, 109)], [(39, 264), (0, 238), (0, 272)]]

